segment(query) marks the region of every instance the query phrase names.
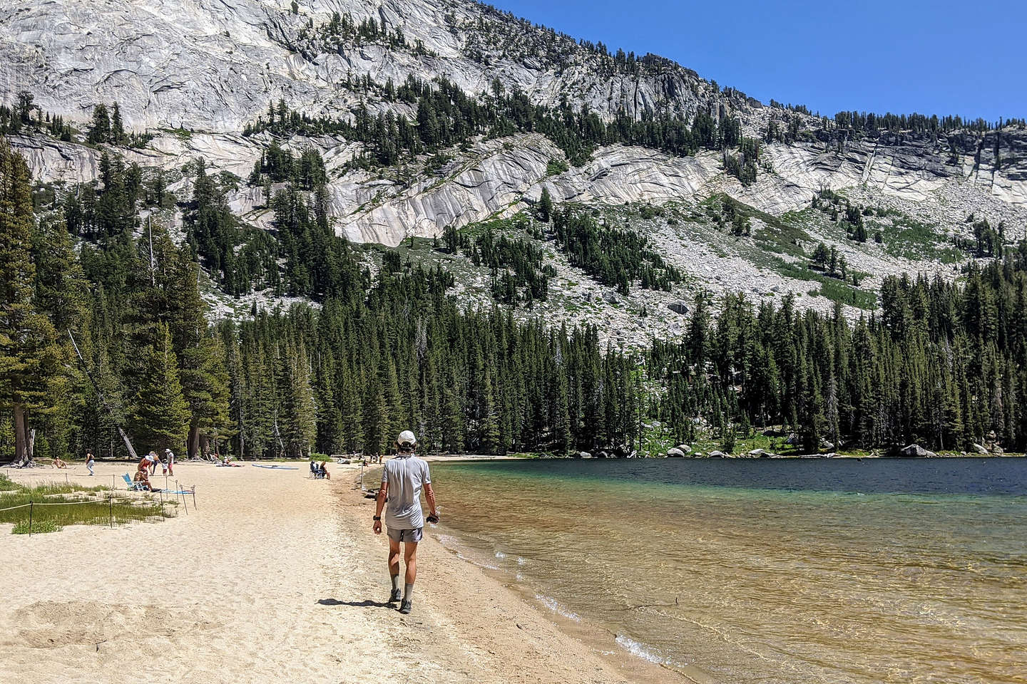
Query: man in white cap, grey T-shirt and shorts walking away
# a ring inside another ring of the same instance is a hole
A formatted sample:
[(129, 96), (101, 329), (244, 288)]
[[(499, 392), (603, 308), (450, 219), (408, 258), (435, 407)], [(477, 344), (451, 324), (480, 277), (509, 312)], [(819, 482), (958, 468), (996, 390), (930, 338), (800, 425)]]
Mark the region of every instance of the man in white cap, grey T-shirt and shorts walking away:
[[(431, 476), (428, 464), (414, 456), (417, 438), (414, 433), (404, 430), (395, 440), (396, 454), (385, 461), (382, 469), (382, 486), (378, 490), (373, 529), (375, 534), (382, 531), (382, 509), (385, 501), (385, 525), (388, 527), (388, 573), (392, 578), (392, 593), (389, 603), (403, 599), (400, 612), (411, 611), (414, 600), (414, 580), (417, 578), (417, 542), (424, 529), (424, 512), (421, 511), (421, 488), (428, 499), (428, 522), (439, 522), (435, 513), (435, 492), (431, 490)], [(407, 566), (406, 584), (400, 593), (400, 542), (403, 542), (404, 562)]]

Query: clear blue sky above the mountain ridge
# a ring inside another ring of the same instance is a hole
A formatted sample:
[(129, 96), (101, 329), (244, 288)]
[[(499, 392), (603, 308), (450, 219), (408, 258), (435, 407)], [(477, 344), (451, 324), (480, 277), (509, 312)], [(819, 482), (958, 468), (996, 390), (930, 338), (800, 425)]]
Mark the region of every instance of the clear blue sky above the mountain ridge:
[(615, 50), (813, 112), (1027, 118), (1027, 2), (492, 0)]

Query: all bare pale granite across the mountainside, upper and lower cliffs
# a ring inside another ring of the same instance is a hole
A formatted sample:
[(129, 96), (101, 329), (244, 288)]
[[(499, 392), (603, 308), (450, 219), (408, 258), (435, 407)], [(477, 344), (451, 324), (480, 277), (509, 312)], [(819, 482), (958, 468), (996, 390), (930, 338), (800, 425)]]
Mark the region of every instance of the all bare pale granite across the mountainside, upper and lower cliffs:
[[(0, 99), (5, 104), (27, 90), (41, 111), (84, 128), (94, 105), (117, 102), (126, 128), (152, 135), (141, 148), (117, 152), (129, 163), (179, 171), (172, 190), (180, 198), (188, 196), (190, 183), (180, 171), (191, 159), (202, 157), (215, 170), (244, 178), (272, 139), (294, 151), (312, 146), (326, 163), (336, 231), (355, 242), (397, 245), (410, 236), (435, 237), (448, 226), (530, 207), (543, 189), (557, 202), (599, 211), (667, 205), (694, 220), (707, 211), (710, 198), (726, 195), (764, 212), (757, 230), (771, 230), (767, 222), (785, 217), (801, 229), (803, 237), (793, 242), (836, 245), (867, 274), (872, 289), (889, 273), (952, 273), (939, 268), (936, 252), (969, 234), (969, 214), (992, 226), (1003, 223), (1011, 240), (1023, 237), (1027, 227), (1027, 131), (1006, 126), (987, 133), (854, 136), (826, 129), (817, 118), (722, 90), (669, 61), (652, 55), (621, 61), (605, 48), (578, 44), (467, 0), (299, 0), (295, 12), (290, 0), (9, 4), (0, 15)], [(350, 26), (373, 21), (374, 30), (327, 32), (336, 13)], [(574, 166), (540, 133), (478, 138), (447, 150), (441, 166), (421, 159), (373, 172), (347, 166), (365, 148), (340, 135), (242, 134), (279, 99), (309, 116), (349, 120), (359, 105), (414, 116), (409, 104), (350, 85), (364, 78), (398, 84), (408, 76), (444, 77), (480, 97), (487, 97), (498, 80), (535, 104), (566, 100), (607, 121), (617, 112), (633, 118), (702, 112), (719, 120), (737, 117), (749, 136), (761, 137), (771, 121), (784, 125), (789, 119), (798, 119), (804, 134), (790, 145), (765, 144), (759, 173), (748, 186), (725, 173), (720, 153), (673, 157), (616, 145), (598, 148), (588, 161)], [(14, 135), (11, 142), (39, 180), (58, 184), (96, 178), (107, 149), (42, 134)], [(917, 254), (845, 240), (809, 213), (813, 194), (825, 189), (928, 226), (930, 249)], [(239, 183), (230, 206), (245, 222), (270, 228), (264, 192)], [(702, 215), (709, 218), (708, 211)], [(180, 213), (173, 218), (180, 220)], [(805, 296), (808, 306), (831, 306), (790, 275), (787, 264), (770, 268), (761, 261), (759, 249), (749, 249), (746, 239), (672, 228), (640, 226), (672, 263), (694, 277), (692, 287), (748, 289), (760, 296), (792, 291)], [(575, 280), (568, 276), (566, 282)], [(568, 296), (602, 298), (568, 288), (574, 290)], [(672, 292), (667, 298), (682, 295)]]

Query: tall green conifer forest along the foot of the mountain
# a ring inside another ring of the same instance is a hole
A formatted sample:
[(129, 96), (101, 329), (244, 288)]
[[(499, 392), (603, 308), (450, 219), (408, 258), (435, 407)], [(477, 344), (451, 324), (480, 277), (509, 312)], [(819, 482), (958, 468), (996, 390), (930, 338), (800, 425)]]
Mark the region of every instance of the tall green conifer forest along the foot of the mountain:
[[(662, 429), (729, 443), (771, 426), (808, 451), (1027, 442), (1023, 245), (955, 284), (888, 278), (854, 321), (700, 292), (680, 339), (622, 352), (593, 327), (467, 310), (441, 268), (372, 276), (328, 219), (319, 160), (300, 160), (275, 237), (195, 162), (179, 243), (149, 217), (175, 201), (159, 173), (105, 155), (99, 182), (40, 192), (0, 140), (0, 461), (125, 456), (117, 426), (137, 450), (243, 458), (380, 453), (404, 429), (454, 453), (644, 452)], [(215, 323), (201, 266), (228, 294), (311, 304)]]

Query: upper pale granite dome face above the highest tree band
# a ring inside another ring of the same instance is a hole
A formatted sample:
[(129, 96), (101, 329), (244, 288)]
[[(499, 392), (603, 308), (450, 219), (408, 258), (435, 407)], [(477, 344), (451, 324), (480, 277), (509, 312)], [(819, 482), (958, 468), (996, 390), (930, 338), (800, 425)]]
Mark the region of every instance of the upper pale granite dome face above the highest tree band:
[[(374, 19), (405, 43), (327, 45), (316, 33), (333, 12)], [(359, 99), (340, 87), (347, 76), (446, 76), (470, 93), (499, 78), (541, 104), (568, 94), (606, 115), (731, 105), (671, 63), (639, 77), (597, 71), (598, 56), (573, 39), (466, 0), (304, 0), (296, 13), (288, 0), (31, 0), (0, 28), (0, 91), (26, 88), (73, 118), (116, 100), (136, 128), (238, 131), (279, 97), (311, 115), (344, 115)]]

